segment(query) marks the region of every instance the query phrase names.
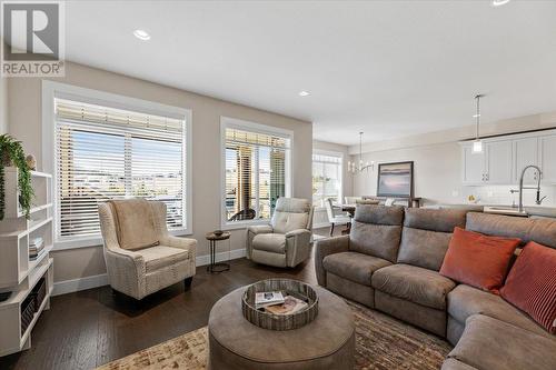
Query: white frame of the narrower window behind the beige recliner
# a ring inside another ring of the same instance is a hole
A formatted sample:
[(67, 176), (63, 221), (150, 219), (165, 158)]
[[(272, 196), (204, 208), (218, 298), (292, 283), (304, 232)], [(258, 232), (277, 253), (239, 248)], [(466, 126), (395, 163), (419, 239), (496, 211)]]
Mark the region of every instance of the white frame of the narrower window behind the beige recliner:
[(230, 117), (220, 117), (220, 228), (222, 230), (235, 230), (245, 229), (251, 224), (268, 224), (270, 219), (228, 221), (226, 212), (226, 129), (238, 129), (264, 134), (274, 134), (289, 140), (289, 153), (287, 152), (288, 154), (285, 163), (285, 197), (294, 197), (294, 171), (291, 167), (291, 163), (294, 163), (294, 131)]

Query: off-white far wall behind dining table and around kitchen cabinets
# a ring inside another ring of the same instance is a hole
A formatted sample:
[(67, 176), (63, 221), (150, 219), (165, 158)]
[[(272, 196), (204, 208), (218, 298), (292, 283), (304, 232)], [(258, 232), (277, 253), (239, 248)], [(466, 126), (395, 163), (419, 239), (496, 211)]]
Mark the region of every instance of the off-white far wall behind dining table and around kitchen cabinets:
[[(527, 130), (556, 127), (556, 112), (519, 117), (481, 126), (485, 136), (505, 134)], [(414, 161), (415, 196), (424, 198), (425, 204), (467, 203), (474, 194), (483, 203), (512, 204), (515, 196), (510, 186), (463, 187), (461, 152), (459, 140), (473, 138), (474, 127), (431, 132), (398, 140), (367, 143), (364, 146), (364, 161), (375, 161), (375, 171), (356, 174), (354, 196), (376, 196), (377, 170), (380, 162)], [(358, 159), (358, 146), (349, 148), (353, 159)], [(555, 187), (543, 187), (548, 196), (544, 206), (556, 206)], [(533, 204), (534, 193), (526, 192), (526, 204)]]

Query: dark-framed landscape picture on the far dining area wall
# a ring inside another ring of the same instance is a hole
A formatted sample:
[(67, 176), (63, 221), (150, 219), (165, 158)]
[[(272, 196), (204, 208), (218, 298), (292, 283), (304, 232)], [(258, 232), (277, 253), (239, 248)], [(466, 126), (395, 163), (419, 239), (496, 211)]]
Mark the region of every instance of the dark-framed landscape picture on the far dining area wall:
[(414, 162), (379, 163), (377, 197), (413, 198)]

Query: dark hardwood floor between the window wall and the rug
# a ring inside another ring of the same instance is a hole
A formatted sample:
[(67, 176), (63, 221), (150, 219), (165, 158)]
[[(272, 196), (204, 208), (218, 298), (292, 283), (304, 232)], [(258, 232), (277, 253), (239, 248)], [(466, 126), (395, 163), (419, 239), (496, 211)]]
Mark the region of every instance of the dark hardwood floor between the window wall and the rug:
[[(316, 233), (328, 236), (328, 231)], [(53, 297), (32, 331), (31, 349), (0, 358), (0, 369), (93, 369), (205, 327), (218, 299), (270, 277), (316, 283), (312, 258), (295, 269), (245, 258), (231, 261), (230, 271), (222, 273), (210, 274), (199, 267), (190, 290), (178, 283), (140, 302), (112, 294), (108, 286)]]

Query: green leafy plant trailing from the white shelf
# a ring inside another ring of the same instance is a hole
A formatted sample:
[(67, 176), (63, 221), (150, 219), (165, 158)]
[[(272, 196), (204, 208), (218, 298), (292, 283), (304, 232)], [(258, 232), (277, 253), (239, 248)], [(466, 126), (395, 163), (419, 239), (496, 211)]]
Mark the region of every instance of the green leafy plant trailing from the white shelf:
[(31, 210), (31, 201), (34, 197), (31, 186), (31, 171), (27, 166), (26, 153), (21, 141), (16, 140), (9, 134), (0, 136), (0, 220), (3, 220), (6, 211), (4, 198), (4, 174), (7, 166), (16, 166), (18, 168), (18, 188), (19, 203), (23, 209), (26, 218), (29, 218)]

